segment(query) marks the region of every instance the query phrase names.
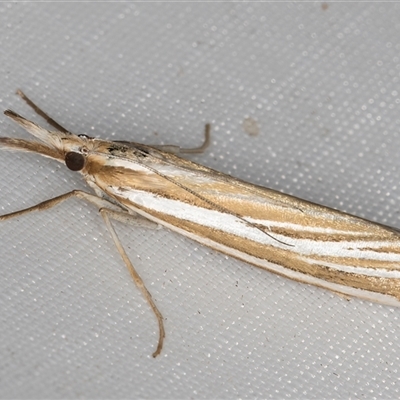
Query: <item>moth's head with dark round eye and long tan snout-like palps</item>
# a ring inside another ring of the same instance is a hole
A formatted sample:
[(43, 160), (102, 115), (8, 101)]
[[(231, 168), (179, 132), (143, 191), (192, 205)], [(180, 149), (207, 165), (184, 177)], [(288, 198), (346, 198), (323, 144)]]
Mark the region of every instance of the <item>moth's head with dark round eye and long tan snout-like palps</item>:
[(39, 141), (0, 138), (0, 149), (41, 154), (65, 163), (72, 171), (82, 171), (86, 166), (88, 155), (98, 145), (97, 142), (99, 140), (87, 135), (49, 131), (11, 110), (6, 110), (4, 114), (39, 139)]

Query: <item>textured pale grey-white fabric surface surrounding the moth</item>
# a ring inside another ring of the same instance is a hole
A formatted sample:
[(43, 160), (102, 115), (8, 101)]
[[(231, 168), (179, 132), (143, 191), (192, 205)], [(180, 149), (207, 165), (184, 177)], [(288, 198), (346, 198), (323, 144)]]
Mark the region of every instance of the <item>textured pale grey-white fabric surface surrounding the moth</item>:
[[(71, 131), (195, 146), (251, 182), (400, 227), (400, 5), (1, 3), (0, 106)], [(258, 136), (243, 128), (257, 121)], [(6, 117), (0, 135), (27, 137)], [(0, 153), (0, 213), (73, 188)], [(400, 310), (298, 284), (97, 210), (0, 224), (1, 398), (399, 398)]]

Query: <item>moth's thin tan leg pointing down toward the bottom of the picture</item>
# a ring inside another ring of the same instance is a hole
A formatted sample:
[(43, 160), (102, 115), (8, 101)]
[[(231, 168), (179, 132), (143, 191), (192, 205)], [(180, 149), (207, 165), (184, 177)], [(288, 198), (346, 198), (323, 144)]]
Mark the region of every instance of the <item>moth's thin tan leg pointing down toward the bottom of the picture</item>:
[(112, 226), (111, 221), (110, 221), (110, 217), (111, 217), (113, 219), (122, 220), (123, 222), (126, 222), (126, 218), (131, 217), (131, 218), (136, 219), (136, 216), (131, 216), (130, 214), (121, 212), (121, 211), (109, 210), (107, 208), (100, 209), (100, 214), (103, 217), (104, 222), (108, 228), (108, 231), (110, 232), (111, 237), (114, 240), (115, 246), (117, 247), (119, 254), (121, 255), (122, 259), (124, 260), (125, 265), (128, 267), (128, 271), (131, 274), (136, 286), (140, 289), (143, 296), (150, 304), (150, 307), (152, 308), (154, 314), (156, 315), (156, 318), (158, 321), (159, 337), (158, 337), (157, 349), (153, 353), (153, 357), (157, 357), (161, 352), (163, 342), (164, 342), (164, 337), (165, 337), (163, 316), (161, 315), (160, 311), (158, 310), (157, 306), (155, 305), (154, 300), (151, 297), (151, 293), (147, 290), (142, 278), (136, 272), (134, 266), (132, 265), (131, 260), (129, 259), (128, 255), (126, 254), (126, 252), (122, 246), (122, 243), (119, 240), (119, 237), (118, 237), (117, 233), (115, 232), (115, 229)]

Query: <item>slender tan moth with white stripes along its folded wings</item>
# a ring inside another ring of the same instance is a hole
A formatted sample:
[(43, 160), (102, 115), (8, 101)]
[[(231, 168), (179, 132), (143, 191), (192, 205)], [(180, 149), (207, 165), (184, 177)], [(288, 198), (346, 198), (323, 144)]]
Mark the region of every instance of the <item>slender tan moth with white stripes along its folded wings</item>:
[(299, 282), (345, 296), (400, 306), (400, 231), (332, 208), (247, 183), (181, 158), (193, 149), (147, 146), (76, 135), (23, 92), (24, 99), (55, 130), (17, 113), (5, 115), (38, 141), (0, 138), (0, 149), (50, 157), (79, 172), (94, 193), (74, 190), (1, 220), (46, 210), (70, 197), (95, 205), (137, 287), (159, 325), (153, 354), (160, 354), (163, 317), (127, 256), (111, 220), (163, 226), (203, 245)]

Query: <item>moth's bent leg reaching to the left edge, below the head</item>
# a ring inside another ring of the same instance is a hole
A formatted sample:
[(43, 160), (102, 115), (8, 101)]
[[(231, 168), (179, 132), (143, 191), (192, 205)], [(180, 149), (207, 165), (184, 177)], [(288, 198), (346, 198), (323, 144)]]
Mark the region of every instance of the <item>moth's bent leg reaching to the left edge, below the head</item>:
[(115, 211), (121, 211), (121, 209), (111, 203), (108, 200), (102, 199), (100, 197), (97, 197), (93, 194), (83, 192), (82, 190), (72, 190), (71, 192), (62, 194), (61, 196), (54, 197), (52, 199), (43, 201), (39, 204), (36, 204), (32, 207), (25, 208), (23, 210), (15, 211), (9, 214), (5, 215), (0, 215), (0, 221), (5, 221), (6, 219), (14, 218), (14, 217), (20, 217), (21, 215), (28, 214), (32, 211), (42, 211), (42, 210), (48, 210), (49, 208), (52, 208), (63, 201), (69, 199), (70, 197), (77, 197), (79, 199), (83, 199), (88, 201), (89, 203), (94, 204), (97, 208), (111, 208)]

